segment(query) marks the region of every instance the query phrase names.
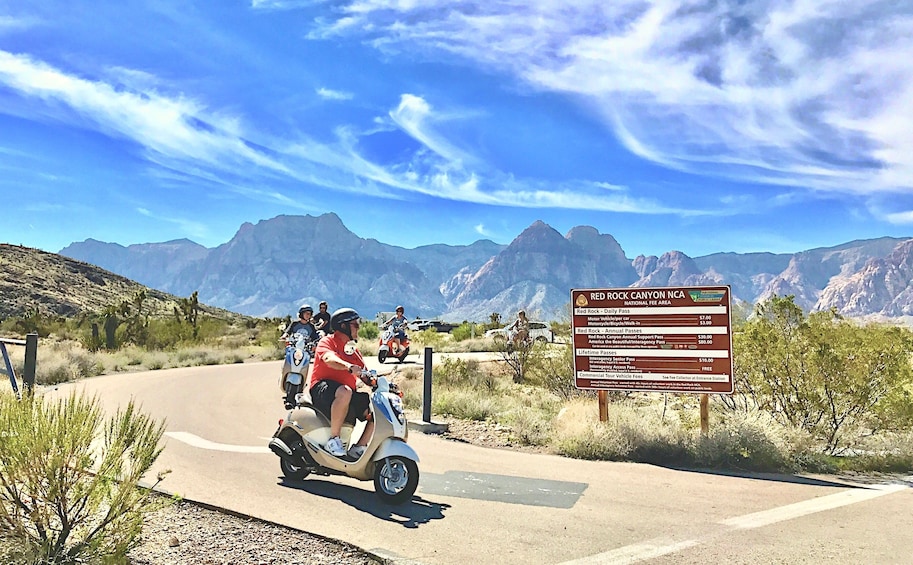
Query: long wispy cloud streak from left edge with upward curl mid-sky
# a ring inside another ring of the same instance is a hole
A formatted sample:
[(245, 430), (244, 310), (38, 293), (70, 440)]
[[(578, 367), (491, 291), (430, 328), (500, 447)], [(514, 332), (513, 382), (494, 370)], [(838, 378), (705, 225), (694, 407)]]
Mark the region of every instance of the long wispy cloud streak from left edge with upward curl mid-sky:
[[(111, 83), (0, 51), (0, 85), (36, 103), (17, 110), (31, 112), (28, 118), (59, 120), (129, 139), (144, 148), (146, 159), (161, 170), (249, 198), (283, 202), (281, 192), (265, 187), (294, 182), (393, 199), (420, 193), (526, 208), (703, 213), (632, 197), (625, 187), (606, 183), (546, 183), (490, 170), (451, 141), (442, 127), (472, 117), (471, 112), (436, 110), (413, 94), (402, 95), (385, 117), (386, 123), (373, 127), (395, 128), (415, 140), (419, 149), (382, 164), (362, 153), (359, 144), (365, 132), (353, 127), (340, 127), (336, 139), (329, 142), (301, 134), (295, 139), (266, 135), (243, 125), (241, 116), (210, 110), (185, 95), (169, 96), (153, 75), (113, 67), (106, 76)], [(191, 224), (185, 227), (195, 229)]]

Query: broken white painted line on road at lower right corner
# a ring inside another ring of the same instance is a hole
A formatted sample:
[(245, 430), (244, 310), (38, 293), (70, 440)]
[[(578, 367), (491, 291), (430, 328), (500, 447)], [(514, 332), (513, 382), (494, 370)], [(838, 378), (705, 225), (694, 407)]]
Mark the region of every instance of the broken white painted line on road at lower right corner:
[[(807, 516), (816, 512), (824, 512), (826, 510), (840, 508), (841, 506), (871, 500), (908, 488), (910, 487), (906, 485), (866, 485), (864, 487), (853, 488), (820, 498), (812, 498), (794, 504), (787, 504), (786, 506), (780, 506), (779, 508), (772, 508), (770, 510), (745, 514), (744, 516), (728, 518), (717, 523), (734, 529), (744, 530), (760, 528), (777, 522)], [(689, 547), (694, 547), (717, 536), (719, 536), (719, 532), (707, 535), (703, 538), (691, 540), (654, 538), (645, 542), (619, 547), (605, 553), (590, 555), (573, 561), (565, 561), (561, 565), (631, 565), (633, 563), (654, 559), (656, 557), (688, 549)]]

